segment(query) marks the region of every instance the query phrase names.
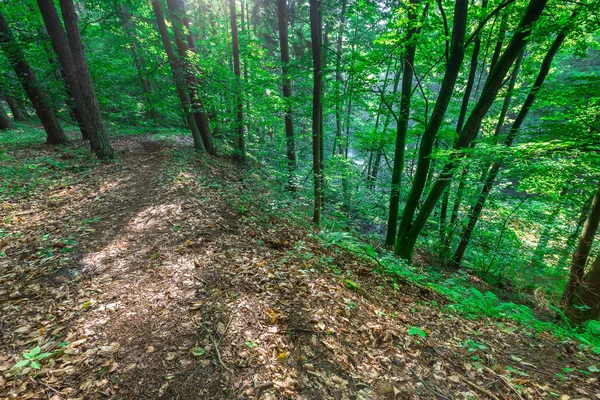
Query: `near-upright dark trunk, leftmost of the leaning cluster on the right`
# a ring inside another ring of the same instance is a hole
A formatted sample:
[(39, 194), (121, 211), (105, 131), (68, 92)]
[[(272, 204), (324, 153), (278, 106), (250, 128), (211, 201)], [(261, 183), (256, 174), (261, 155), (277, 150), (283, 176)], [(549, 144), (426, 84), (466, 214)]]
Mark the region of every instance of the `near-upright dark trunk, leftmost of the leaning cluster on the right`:
[[(393, 246), (396, 240), (396, 227), (398, 226), (398, 211), (400, 208), (400, 182), (404, 171), (404, 149), (406, 148), (406, 135), (408, 133), (408, 120), (410, 118), (410, 100), (412, 96), (412, 83), (414, 75), (415, 52), (417, 43), (416, 7), (418, 1), (411, 0), (408, 12), (408, 32), (406, 34), (406, 54), (402, 67), (402, 86), (400, 93), (400, 114), (396, 125), (396, 147), (394, 149), (394, 168), (392, 170), (392, 186), (390, 191), (390, 208), (388, 214), (387, 231), (385, 235), (386, 246)], [(466, 6), (465, 6), (466, 11)], [(465, 19), (466, 20), (466, 19)]]

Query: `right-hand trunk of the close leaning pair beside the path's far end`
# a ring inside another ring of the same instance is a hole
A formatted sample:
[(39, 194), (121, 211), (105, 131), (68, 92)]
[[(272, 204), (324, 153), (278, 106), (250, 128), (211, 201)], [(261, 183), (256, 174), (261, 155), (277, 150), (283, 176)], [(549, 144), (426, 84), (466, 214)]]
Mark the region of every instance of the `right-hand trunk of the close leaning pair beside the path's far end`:
[(177, 45), (177, 51), (179, 53), (179, 63), (187, 83), (187, 91), (190, 98), (190, 104), (192, 105), (194, 119), (196, 120), (196, 125), (200, 131), (204, 148), (210, 154), (215, 154), (215, 148), (208, 126), (208, 115), (206, 114), (204, 104), (198, 94), (200, 85), (187, 54), (188, 51), (195, 52), (196, 45), (190, 31), (189, 21), (185, 16), (185, 3), (184, 0), (167, 0), (167, 5), (170, 11), (171, 22), (173, 22), (173, 33), (175, 35), (175, 44)]

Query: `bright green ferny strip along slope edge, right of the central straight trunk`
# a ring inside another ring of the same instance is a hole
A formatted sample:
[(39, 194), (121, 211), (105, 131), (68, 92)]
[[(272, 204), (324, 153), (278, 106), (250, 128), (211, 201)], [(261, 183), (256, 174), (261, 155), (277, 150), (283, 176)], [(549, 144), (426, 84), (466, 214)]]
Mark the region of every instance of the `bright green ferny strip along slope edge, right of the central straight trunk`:
[(391, 253), (376, 250), (345, 232), (325, 232), (318, 236), (325, 247), (337, 246), (359, 257), (375, 261), (376, 273), (387, 274), (398, 280), (432, 289), (449, 300), (447, 312), (457, 313), (465, 318), (489, 317), (498, 321), (508, 320), (520, 324), (530, 333), (548, 332), (560, 340), (576, 340), (582, 348), (600, 354), (600, 322), (589, 321), (582, 326), (573, 326), (563, 312), (549, 305), (555, 315), (554, 320), (544, 321), (536, 317), (531, 307), (501, 301), (491, 291), (481, 292), (469, 282), (469, 274), (459, 271), (448, 275), (436, 268), (420, 269), (406, 264)]

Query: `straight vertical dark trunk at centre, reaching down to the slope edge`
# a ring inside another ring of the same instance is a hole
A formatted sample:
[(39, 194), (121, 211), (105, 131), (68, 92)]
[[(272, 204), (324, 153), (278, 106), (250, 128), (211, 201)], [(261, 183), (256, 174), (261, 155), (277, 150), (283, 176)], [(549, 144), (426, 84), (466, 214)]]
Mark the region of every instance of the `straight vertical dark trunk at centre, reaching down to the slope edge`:
[(313, 107), (312, 107), (312, 149), (314, 178), (314, 210), (313, 223), (321, 223), (323, 187), (321, 185), (321, 2), (310, 0), (310, 37), (313, 57)]

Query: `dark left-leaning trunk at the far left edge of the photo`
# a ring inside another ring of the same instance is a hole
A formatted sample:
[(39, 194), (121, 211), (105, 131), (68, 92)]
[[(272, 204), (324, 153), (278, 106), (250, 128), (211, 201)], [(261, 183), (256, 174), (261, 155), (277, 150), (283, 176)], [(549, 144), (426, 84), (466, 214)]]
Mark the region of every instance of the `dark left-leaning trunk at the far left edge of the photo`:
[(31, 67), (25, 60), (25, 56), (19, 48), (18, 43), (15, 41), (8, 27), (8, 23), (1, 12), (0, 45), (44, 126), (44, 130), (46, 131), (46, 142), (48, 144), (67, 143), (67, 137), (58, 123), (58, 119), (56, 119), (56, 115), (54, 114), (47, 97), (42, 93)]

